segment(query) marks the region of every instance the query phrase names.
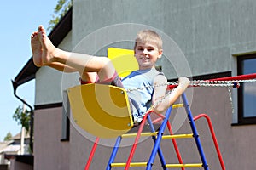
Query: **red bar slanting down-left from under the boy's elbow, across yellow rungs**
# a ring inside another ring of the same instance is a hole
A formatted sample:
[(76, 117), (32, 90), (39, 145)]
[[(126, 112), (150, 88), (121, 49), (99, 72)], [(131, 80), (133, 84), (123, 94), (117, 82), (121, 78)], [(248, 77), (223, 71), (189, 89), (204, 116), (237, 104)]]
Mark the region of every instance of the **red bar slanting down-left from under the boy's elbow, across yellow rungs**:
[(146, 120), (147, 120), (147, 116), (148, 116), (148, 114), (150, 114), (151, 112), (153, 112), (153, 111), (151, 111), (151, 110), (148, 111), (148, 112), (146, 113), (146, 115), (143, 117), (143, 121), (141, 122), (140, 127), (139, 127), (139, 129), (138, 129), (138, 131), (137, 131), (137, 136), (136, 136), (135, 141), (134, 141), (134, 143), (133, 143), (133, 145), (132, 145), (132, 147), (131, 147), (130, 155), (129, 155), (127, 161), (126, 161), (125, 170), (128, 170), (129, 167), (130, 167), (131, 160), (132, 160), (132, 157), (133, 157), (133, 155), (134, 155), (134, 153), (135, 153), (135, 150), (136, 150), (136, 148), (137, 148), (138, 140), (140, 139), (141, 133), (143, 132), (143, 127), (144, 127), (145, 122), (146, 122)]

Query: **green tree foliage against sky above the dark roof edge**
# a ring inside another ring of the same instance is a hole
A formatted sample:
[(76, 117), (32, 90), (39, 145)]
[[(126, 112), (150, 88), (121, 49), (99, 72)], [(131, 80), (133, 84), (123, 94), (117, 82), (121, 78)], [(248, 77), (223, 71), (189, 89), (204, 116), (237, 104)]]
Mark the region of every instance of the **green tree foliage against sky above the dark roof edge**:
[(48, 31), (51, 31), (61, 20), (61, 18), (67, 13), (67, 11), (72, 7), (73, 0), (58, 0), (55, 6), (54, 13), (52, 14), (52, 19), (49, 20)]

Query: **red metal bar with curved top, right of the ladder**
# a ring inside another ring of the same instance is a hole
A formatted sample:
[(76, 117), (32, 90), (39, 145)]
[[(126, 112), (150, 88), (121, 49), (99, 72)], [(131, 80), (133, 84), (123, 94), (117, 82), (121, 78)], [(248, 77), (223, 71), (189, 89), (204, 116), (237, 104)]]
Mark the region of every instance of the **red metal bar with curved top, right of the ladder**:
[(215, 149), (216, 149), (217, 154), (218, 154), (219, 163), (220, 163), (222, 169), (225, 170), (224, 161), (223, 161), (221, 152), (220, 152), (219, 147), (218, 147), (218, 141), (217, 141), (216, 135), (214, 133), (214, 129), (213, 129), (213, 126), (212, 126), (211, 119), (210, 119), (209, 116), (207, 116), (207, 114), (200, 114), (200, 115), (194, 117), (194, 121), (198, 120), (201, 117), (205, 117), (207, 119), (208, 126), (209, 126), (209, 129), (210, 129), (211, 134), (212, 134), (213, 143), (214, 143)]

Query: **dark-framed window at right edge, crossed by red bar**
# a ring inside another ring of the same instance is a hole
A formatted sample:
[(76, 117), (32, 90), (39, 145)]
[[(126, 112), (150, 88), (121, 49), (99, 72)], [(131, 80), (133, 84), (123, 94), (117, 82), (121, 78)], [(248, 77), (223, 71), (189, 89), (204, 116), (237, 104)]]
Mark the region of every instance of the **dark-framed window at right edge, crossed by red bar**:
[[(237, 58), (238, 75), (256, 72), (256, 54)], [(256, 82), (241, 83), (238, 88), (238, 124), (256, 124)]]

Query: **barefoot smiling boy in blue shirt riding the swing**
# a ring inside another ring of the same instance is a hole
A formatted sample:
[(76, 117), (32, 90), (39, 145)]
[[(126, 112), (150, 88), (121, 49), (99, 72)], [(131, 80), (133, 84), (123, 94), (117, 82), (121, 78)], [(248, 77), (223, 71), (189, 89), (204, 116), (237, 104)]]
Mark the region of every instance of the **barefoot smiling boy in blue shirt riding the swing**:
[[(32, 55), (37, 66), (48, 65), (59, 71), (79, 71), (81, 83), (112, 84), (121, 88), (142, 88), (128, 93), (134, 122), (140, 122), (151, 105), (158, 113), (166, 111), (189, 86), (189, 79), (180, 77), (177, 88), (166, 96), (167, 80), (163, 73), (156, 71), (155, 63), (163, 54), (161, 37), (154, 31), (145, 30), (137, 34), (134, 55), (139, 66), (123, 80), (120, 80), (110, 59), (87, 54), (63, 51), (50, 42), (43, 26), (31, 36)], [(160, 85), (160, 86), (158, 86)]]

